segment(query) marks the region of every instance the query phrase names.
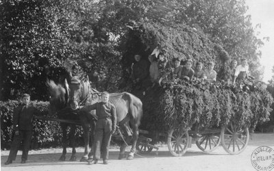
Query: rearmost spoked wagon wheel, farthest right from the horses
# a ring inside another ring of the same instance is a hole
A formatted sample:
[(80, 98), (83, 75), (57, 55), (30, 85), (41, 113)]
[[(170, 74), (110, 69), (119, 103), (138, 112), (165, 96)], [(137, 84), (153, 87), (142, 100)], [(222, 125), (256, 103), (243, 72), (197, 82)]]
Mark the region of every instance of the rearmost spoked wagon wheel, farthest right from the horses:
[(242, 153), (249, 142), (249, 129), (233, 123), (225, 125), (221, 130), (221, 143), (225, 151), (231, 155)]

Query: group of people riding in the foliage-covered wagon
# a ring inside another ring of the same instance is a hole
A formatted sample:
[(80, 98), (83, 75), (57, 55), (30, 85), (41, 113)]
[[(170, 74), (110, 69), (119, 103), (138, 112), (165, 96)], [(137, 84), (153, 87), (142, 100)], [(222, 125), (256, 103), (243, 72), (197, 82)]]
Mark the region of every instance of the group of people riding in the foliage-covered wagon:
[[(132, 81), (146, 88), (152, 82), (155, 83), (160, 79), (160, 71), (158, 68), (158, 60), (155, 55), (149, 55), (149, 62), (142, 60), (140, 55), (134, 56), (135, 63), (132, 65)], [(185, 65), (181, 65), (181, 61), (175, 58), (173, 61), (173, 78), (184, 79), (186, 81), (200, 80), (214, 82), (217, 73), (214, 70), (214, 62), (208, 62), (207, 68), (203, 69), (203, 63), (197, 62), (195, 69), (192, 69), (192, 60), (186, 60)], [(243, 58), (241, 64), (237, 66), (237, 61), (232, 60), (230, 64), (230, 73), (232, 82), (249, 77), (249, 66), (247, 59)]]

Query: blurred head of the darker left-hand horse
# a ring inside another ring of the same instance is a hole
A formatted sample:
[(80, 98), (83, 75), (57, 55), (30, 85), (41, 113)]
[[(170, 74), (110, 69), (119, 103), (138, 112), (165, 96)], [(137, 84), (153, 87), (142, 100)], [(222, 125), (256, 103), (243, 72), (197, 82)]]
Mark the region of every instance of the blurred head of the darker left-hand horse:
[(52, 116), (57, 111), (64, 109), (69, 103), (69, 85), (66, 79), (64, 86), (47, 79), (47, 87), (49, 88), (49, 115)]

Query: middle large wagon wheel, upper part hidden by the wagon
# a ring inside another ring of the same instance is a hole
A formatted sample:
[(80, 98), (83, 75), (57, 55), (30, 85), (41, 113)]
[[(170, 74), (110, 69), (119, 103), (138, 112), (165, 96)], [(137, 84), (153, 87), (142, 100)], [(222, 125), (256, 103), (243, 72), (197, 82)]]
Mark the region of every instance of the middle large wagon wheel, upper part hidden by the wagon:
[(196, 145), (205, 153), (210, 153), (219, 147), (221, 143), (221, 133), (202, 133), (197, 138)]

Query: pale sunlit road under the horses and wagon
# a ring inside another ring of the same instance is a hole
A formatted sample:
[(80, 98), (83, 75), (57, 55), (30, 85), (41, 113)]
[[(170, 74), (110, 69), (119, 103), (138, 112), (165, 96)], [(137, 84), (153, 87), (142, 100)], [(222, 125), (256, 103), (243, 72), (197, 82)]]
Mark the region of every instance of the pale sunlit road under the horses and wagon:
[[(58, 161), (62, 149), (49, 148), (29, 151), (29, 161), (21, 164), (21, 151), (16, 161), (5, 166), (9, 150), (1, 151), (1, 170), (255, 170), (251, 165), (251, 154), (258, 146), (269, 146), (274, 149), (274, 133), (253, 133), (247, 148), (239, 155), (229, 155), (221, 146), (211, 154), (202, 153), (195, 144), (188, 148), (183, 157), (172, 157), (166, 144), (158, 144), (158, 154), (152, 150), (149, 155), (135, 156), (134, 160), (119, 160), (119, 147), (110, 148), (108, 165), (99, 161), (97, 165), (79, 162), (84, 148), (77, 148), (77, 161), (68, 161), (71, 149), (66, 155), (67, 161)], [(129, 150), (127, 150), (129, 151)]]

